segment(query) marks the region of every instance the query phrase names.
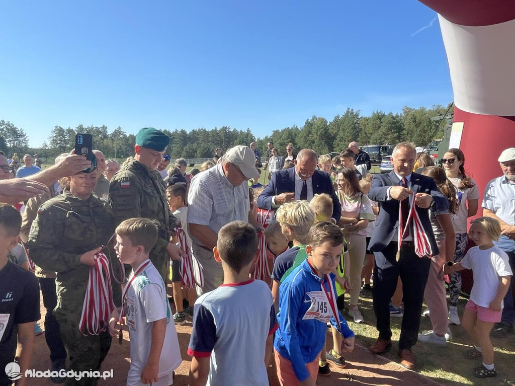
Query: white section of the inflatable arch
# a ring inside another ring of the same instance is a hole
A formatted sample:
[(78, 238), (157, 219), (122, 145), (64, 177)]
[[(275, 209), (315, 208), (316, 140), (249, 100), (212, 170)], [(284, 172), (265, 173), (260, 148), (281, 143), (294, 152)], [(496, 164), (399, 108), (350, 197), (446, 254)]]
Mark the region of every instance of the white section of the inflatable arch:
[(454, 103), (486, 115), (515, 115), (515, 20), (482, 27), (438, 15)]

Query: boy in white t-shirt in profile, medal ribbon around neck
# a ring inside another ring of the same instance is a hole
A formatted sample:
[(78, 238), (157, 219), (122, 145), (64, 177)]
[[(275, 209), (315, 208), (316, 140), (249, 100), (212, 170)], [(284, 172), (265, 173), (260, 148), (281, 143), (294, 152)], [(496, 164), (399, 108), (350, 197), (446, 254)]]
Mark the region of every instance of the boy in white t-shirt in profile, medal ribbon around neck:
[(116, 255), (131, 265), (132, 273), (122, 295), (122, 307), (111, 314), (109, 332), (119, 338), (116, 325), (126, 317), (131, 361), (127, 386), (168, 386), (182, 361), (166, 287), (148, 259), (157, 239), (158, 227), (148, 219), (128, 219), (116, 228)]

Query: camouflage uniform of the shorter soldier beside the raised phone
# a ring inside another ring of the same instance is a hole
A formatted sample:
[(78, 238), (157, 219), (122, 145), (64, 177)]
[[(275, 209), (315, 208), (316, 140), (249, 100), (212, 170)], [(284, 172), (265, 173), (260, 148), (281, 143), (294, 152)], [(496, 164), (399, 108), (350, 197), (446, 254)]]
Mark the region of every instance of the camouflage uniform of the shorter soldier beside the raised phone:
[[(68, 370), (99, 370), (111, 346), (109, 332), (82, 335), (79, 321), (88, 285), (90, 267), (79, 262), (85, 252), (104, 245), (114, 233), (113, 215), (109, 204), (92, 195), (81, 200), (66, 190), (49, 199), (38, 210), (27, 242), (30, 257), (44, 270), (57, 273), (57, 307), (54, 315), (59, 322), (70, 366)], [(111, 252), (114, 270), (116, 255)], [(121, 305), (119, 284), (112, 280), (114, 303)], [(66, 378), (67, 385), (93, 385), (95, 379)]]

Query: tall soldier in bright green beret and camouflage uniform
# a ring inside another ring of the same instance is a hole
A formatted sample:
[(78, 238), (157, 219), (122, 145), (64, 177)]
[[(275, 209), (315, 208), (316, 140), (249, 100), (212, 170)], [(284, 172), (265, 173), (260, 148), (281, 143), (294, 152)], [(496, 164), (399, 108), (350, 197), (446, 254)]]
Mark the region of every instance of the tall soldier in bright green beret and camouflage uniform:
[(157, 167), (163, 160), (170, 139), (162, 131), (144, 127), (136, 135), (134, 157), (116, 173), (109, 184), (109, 200), (116, 225), (131, 217), (145, 217), (159, 222), (159, 239), (150, 251), (150, 261), (166, 283), (168, 259), (180, 260), (182, 250), (169, 242), (169, 231), (179, 225), (170, 212), (166, 187)]

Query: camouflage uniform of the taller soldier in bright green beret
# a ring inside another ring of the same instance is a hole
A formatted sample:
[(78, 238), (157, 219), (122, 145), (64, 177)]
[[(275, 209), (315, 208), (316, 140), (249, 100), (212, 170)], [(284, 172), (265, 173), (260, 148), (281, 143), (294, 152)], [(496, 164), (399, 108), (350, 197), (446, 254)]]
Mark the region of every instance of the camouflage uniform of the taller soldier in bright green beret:
[(159, 222), (159, 239), (149, 258), (166, 283), (168, 231), (173, 230), (179, 222), (168, 208), (165, 184), (159, 172), (148, 170), (131, 157), (111, 179), (109, 200), (116, 225), (131, 217), (145, 217)]

